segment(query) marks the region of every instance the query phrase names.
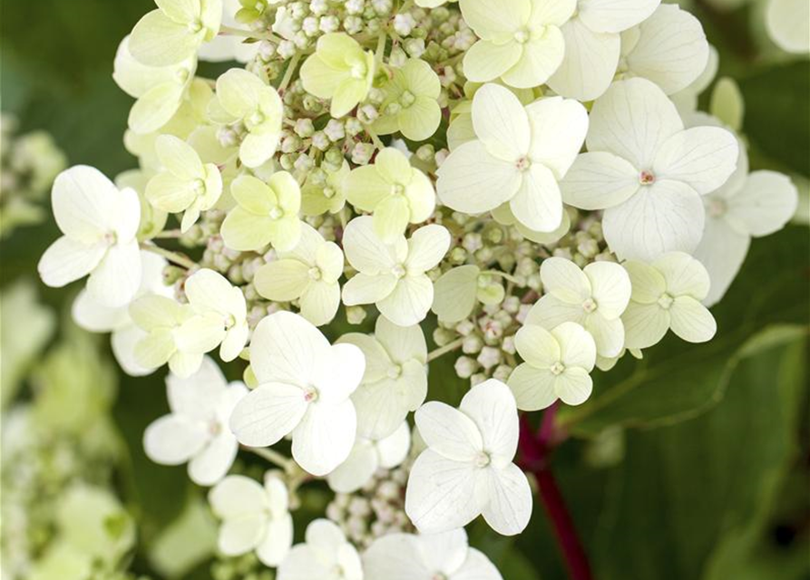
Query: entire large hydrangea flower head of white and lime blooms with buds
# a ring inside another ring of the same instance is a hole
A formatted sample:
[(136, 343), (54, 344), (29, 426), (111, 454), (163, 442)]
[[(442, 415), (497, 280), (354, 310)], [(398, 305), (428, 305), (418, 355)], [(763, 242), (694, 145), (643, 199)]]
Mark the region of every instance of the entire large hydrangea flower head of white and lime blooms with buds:
[[(529, 522), (519, 413), (585, 403), (670, 330), (711, 340), (750, 238), (795, 211), (696, 111), (711, 49), (676, 5), (156, 4), (115, 60), (139, 169), (60, 175), (39, 270), (86, 276), (75, 318), (124, 370), (168, 364), (147, 453), (279, 580), (500, 578), (464, 526)], [(457, 407), (428, 388), (450, 355)], [(229, 474), (239, 448), (280, 469)], [(293, 546), (320, 478), (329, 519)]]

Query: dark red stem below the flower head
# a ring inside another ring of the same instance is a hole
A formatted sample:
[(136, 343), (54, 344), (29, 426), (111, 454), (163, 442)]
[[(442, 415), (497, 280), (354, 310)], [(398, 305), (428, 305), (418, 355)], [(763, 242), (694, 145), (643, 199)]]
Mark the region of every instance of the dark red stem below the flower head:
[(551, 520), (551, 528), (557, 544), (560, 546), (562, 559), (568, 569), (571, 580), (593, 580), (588, 556), (577, 535), (577, 529), (571, 519), (565, 498), (562, 497), (557, 480), (551, 473), (550, 454), (554, 446), (555, 417), (557, 404), (549, 407), (542, 416), (540, 430), (532, 431), (532, 426), (525, 414), (521, 417), (520, 449), (521, 466), (524, 471), (532, 473), (537, 479), (542, 505)]

